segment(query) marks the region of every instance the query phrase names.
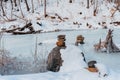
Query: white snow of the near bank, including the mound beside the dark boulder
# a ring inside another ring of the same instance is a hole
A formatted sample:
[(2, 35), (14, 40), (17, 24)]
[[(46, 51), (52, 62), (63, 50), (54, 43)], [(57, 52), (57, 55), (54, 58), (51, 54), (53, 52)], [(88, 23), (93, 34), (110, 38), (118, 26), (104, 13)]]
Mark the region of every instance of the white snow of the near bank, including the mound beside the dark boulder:
[[(63, 66), (59, 72), (45, 72), (27, 75), (0, 76), (0, 80), (119, 80), (120, 74), (110, 72), (107, 77), (99, 77), (98, 73), (89, 72), (85, 69), (86, 64), (81, 56), (81, 50), (74, 45), (67, 45), (67, 48), (61, 50), (64, 60)], [(96, 64), (100, 72), (106, 72), (103, 64)]]

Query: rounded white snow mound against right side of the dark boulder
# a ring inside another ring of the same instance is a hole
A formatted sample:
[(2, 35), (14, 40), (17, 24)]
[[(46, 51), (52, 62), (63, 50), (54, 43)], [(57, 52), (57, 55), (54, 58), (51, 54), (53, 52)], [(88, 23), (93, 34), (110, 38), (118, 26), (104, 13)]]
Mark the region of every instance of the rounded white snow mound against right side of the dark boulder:
[(72, 72), (87, 67), (81, 52), (82, 51), (74, 45), (69, 45), (66, 49), (62, 49), (61, 54), (64, 61), (60, 72)]

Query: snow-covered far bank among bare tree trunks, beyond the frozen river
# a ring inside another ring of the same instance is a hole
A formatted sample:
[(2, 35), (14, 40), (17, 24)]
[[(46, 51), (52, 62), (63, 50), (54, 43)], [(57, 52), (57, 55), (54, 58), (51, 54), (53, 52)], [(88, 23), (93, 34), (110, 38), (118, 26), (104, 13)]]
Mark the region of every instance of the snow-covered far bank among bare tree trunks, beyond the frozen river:
[[(48, 1), (47, 4), (47, 14), (48, 17), (44, 18), (43, 6), (38, 6), (37, 1), (34, 1), (35, 12), (27, 12), (25, 4), (22, 6), (24, 12), (24, 18), (21, 19), (20, 12), (14, 11), (15, 15), (18, 15), (20, 18), (13, 15), (15, 21), (5, 22), (3, 18), (0, 20), (0, 28), (10, 28), (15, 25), (16, 27), (23, 27), (26, 23), (32, 22), (32, 26), (35, 30), (42, 30), (42, 32), (47, 31), (56, 31), (56, 30), (70, 30), (70, 29), (97, 29), (107, 26), (108, 28), (120, 27), (120, 25), (115, 26), (111, 24), (112, 22), (118, 21), (120, 19), (120, 12), (116, 11), (114, 16), (111, 17), (111, 10), (116, 10), (113, 3), (108, 3), (106, 1), (99, 1), (98, 4), (98, 13), (96, 16), (93, 16), (94, 5), (91, 4), (90, 8), (86, 8), (86, 1), (76, 0), (73, 3), (68, 3), (68, 0), (58, 1), (58, 6), (56, 1)], [(29, 2), (30, 3), (30, 2)], [(6, 13), (9, 13), (11, 9), (10, 2), (6, 3)], [(56, 15), (57, 14), (57, 15)], [(10, 17), (12, 14), (9, 14)], [(61, 17), (62, 21), (58, 18)], [(54, 17), (52, 19), (51, 17)], [(41, 25), (37, 24), (40, 23)], [(1, 30), (1, 29), (0, 29)]]

